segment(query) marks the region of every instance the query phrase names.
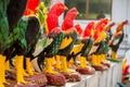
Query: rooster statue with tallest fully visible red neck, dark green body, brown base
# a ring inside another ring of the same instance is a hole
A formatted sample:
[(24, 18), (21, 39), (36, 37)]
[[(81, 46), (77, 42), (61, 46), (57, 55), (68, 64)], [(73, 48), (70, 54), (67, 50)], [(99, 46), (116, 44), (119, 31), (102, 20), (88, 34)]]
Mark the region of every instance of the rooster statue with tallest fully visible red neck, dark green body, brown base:
[[(58, 25), (58, 16), (66, 10), (67, 8), (62, 3), (55, 3), (49, 11), (47, 15), (47, 26), (48, 36), (47, 38), (50, 40), (50, 44), (36, 57), (43, 63), (46, 61), (46, 65), (43, 67), (43, 72), (47, 74), (47, 78), (49, 79), (49, 85), (65, 85), (65, 77), (53, 70), (52, 65), (54, 62), (54, 57), (58, 52), (60, 46), (64, 38), (64, 34)], [(39, 63), (39, 64), (41, 64)], [(57, 78), (58, 77), (58, 78)], [(50, 80), (50, 78), (52, 80)]]

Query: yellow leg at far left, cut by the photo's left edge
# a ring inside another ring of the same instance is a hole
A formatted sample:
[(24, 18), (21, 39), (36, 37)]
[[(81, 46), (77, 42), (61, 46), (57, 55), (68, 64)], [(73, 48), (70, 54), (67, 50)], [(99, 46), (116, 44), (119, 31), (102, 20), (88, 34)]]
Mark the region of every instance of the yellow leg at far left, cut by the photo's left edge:
[(0, 54), (0, 87), (4, 87), (4, 84), (10, 85), (10, 83), (8, 83), (5, 80), (5, 67), (4, 67), (4, 63), (5, 63), (5, 57)]

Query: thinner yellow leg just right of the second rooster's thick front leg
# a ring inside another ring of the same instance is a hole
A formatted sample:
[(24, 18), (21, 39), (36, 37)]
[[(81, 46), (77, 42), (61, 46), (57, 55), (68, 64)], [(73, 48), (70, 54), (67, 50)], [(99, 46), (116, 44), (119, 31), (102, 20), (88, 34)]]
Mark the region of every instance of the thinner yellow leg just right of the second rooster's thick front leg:
[(34, 69), (30, 62), (30, 58), (26, 58), (26, 71), (29, 75), (34, 75)]

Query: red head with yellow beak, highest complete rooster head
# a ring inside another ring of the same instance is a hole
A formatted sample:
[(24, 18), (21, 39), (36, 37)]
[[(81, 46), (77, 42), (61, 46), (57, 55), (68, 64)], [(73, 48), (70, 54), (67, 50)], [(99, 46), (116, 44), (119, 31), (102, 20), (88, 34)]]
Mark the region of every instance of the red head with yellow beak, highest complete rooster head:
[(55, 13), (60, 16), (65, 10), (67, 10), (67, 7), (65, 7), (62, 2), (57, 2), (51, 8), (50, 13)]

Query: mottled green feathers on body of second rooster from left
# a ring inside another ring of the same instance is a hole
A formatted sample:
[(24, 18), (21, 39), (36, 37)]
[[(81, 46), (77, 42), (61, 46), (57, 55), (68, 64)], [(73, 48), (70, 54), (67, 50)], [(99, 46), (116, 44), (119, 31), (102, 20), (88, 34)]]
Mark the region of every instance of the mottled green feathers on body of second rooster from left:
[(15, 28), (13, 28), (13, 32), (10, 33), (9, 41), (8, 41), (8, 48), (11, 47), (11, 45), (15, 41), (18, 41), (20, 46), (23, 49), (27, 48), (26, 39), (25, 39), (25, 33), (27, 28), (28, 22), (27, 18), (22, 18), (18, 21)]

